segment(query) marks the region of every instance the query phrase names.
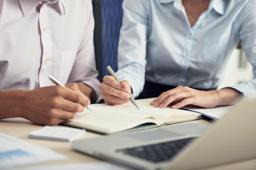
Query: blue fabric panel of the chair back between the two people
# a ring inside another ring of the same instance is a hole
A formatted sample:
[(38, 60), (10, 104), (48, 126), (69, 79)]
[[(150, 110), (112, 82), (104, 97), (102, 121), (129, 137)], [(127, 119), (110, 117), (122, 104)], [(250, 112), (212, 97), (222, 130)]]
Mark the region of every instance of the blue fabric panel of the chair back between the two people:
[(102, 21), (102, 77), (110, 75), (106, 67), (117, 71), (117, 46), (122, 24), (123, 0), (101, 0)]

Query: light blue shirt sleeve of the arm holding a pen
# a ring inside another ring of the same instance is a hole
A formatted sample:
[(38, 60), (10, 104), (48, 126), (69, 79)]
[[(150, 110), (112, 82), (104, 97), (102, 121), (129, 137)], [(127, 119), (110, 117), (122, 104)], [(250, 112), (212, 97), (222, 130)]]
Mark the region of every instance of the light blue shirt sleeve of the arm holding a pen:
[(120, 80), (128, 80), (135, 97), (145, 83), (146, 44), (148, 34), (148, 2), (124, 0), (123, 23), (118, 47), (118, 71)]

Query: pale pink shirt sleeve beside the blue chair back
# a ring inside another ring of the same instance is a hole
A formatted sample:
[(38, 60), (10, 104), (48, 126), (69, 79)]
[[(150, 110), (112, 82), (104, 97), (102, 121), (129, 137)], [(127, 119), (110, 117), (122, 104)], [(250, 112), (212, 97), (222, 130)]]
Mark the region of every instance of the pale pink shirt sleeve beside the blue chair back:
[(85, 23), (85, 31), (79, 47), (76, 59), (68, 79), (68, 83), (81, 81), (94, 89), (97, 95), (97, 102), (100, 100), (99, 80), (97, 78), (98, 71), (96, 69), (95, 53), (94, 53), (94, 17), (92, 12), (92, 2), (86, 1), (86, 16), (81, 16), (81, 22)]

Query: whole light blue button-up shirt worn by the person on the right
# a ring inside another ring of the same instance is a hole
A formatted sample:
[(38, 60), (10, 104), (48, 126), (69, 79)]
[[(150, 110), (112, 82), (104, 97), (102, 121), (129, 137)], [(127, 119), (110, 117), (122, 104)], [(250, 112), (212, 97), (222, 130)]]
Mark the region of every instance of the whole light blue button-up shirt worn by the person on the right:
[[(256, 1), (211, 0), (191, 28), (181, 0), (124, 0), (117, 75), (135, 96), (146, 81), (217, 88), (238, 42), (254, 79), (230, 87), (256, 94)], [(234, 75), (236, 76), (236, 75)]]

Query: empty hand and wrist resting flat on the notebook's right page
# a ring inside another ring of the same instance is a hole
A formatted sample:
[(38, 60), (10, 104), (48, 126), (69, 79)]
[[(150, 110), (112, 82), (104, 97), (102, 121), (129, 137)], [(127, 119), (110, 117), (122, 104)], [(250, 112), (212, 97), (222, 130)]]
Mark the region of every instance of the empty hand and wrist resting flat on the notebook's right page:
[(177, 86), (174, 89), (163, 92), (150, 102), (150, 105), (160, 108), (172, 106), (173, 109), (179, 109), (186, 105), (213, 108), (218, 105), (232, 105), (239, 98), (239, 92), (231, 88), (201, 91), (186, 86)]

